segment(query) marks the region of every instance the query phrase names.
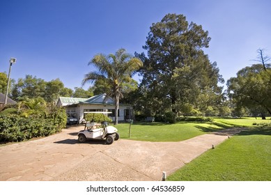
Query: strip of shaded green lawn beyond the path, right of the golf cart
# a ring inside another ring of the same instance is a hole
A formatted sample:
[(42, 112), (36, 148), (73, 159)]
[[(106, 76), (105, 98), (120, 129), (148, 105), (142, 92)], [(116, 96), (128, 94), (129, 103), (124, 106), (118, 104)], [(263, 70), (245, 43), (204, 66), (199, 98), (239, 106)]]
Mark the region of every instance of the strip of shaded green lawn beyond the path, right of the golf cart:
[[(213, 122), (179, 122), (167, 123), (134, 123), (131, 126), (129, 138), (129, 123), (116, 125), (121, 139), (133, 139), (139, 141), (183, 141), (192, 137), (216, 132), (231, 127), (252, 127), (253, 123), (261, 123), (263, 120), (255, 118), (214, 118)], [(268, 120), (270, 121), (270, 120)]]

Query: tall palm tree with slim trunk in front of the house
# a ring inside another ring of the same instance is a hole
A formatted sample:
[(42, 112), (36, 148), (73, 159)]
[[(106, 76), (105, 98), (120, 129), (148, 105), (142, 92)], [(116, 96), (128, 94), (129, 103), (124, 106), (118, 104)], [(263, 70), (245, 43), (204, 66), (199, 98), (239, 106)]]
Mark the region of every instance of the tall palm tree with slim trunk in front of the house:
[(97, 54), (91, 59), (88, 65), (93, 65), (97, 71), (88, 72), (85, 75), (82, 84), (87, 82), (95, 82), (109, 86), (107, 96), (111, 96), (115, 101), (115, 124), (118, 124), (118, 104), (120, 98), (123, 98), (121, 93), (121, 85), (132, 79), (132, 75), (142, 65), (142, 61), (127, 54), (125, 49), (118, 49), (116, 54)]

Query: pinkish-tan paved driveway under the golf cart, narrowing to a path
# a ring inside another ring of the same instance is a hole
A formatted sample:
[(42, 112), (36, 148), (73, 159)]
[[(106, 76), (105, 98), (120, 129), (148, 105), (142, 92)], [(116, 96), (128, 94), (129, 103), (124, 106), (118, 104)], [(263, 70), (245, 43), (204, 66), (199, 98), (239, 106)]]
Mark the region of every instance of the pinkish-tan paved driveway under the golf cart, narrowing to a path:
[(0, 180), (161, 180), (217, 146), (228, 136), (203, 134), (180, 142), (148, 142), (120, 139), (78, 143), (84, 127), (64, 129), (50, 137), (0, 146)]

